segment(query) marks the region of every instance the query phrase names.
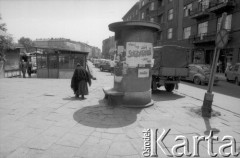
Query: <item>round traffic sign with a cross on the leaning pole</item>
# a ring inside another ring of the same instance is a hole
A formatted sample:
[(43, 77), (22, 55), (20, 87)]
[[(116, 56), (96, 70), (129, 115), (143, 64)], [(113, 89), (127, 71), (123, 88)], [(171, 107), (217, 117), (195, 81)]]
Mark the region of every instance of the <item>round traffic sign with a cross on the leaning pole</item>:
[(229, 34), (226, 29), (221, 29), (216, 37), (216, 47), (218, 49), (223, 49), (228, 43)]

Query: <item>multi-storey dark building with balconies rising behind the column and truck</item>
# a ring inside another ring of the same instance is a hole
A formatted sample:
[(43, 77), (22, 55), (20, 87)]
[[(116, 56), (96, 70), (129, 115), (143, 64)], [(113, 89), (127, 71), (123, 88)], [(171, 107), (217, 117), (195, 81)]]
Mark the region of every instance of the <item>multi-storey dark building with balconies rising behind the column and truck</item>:
[[(192, 63), (211, 64), (224, 12), (227, 13), (224, 28), (230, 38), (219, 56), (223, 71), (227, 63), (240, 62), (239, 0), (139, 0), (139, 20), (156, 22), (161, 27), (155, 45), (187, 47)], [(132, 20), (126, 15), (124, 21)]]

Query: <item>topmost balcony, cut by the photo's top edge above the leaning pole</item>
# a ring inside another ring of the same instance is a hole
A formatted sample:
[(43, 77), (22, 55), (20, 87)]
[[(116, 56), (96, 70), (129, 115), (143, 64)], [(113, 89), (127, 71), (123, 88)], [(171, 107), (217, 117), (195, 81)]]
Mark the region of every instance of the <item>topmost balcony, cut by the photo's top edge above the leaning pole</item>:
[(210, 2), (209, 11), (213, 13), (223, 13), (232, 10), (235, 5), (235, 0), (213, 0)]

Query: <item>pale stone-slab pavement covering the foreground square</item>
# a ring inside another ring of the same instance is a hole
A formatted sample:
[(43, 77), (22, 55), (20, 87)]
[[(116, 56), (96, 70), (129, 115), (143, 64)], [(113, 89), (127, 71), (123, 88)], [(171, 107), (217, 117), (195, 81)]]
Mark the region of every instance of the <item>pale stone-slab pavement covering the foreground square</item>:
[[(204, 136), (212, 126), (236, 138), (240, 147), (240, 115), (215, 108), (221, 116), (209, 124), (194, 111), (202, 101), (178, 91), (158, 91), (155, 104), (144, 109), (108, 106), (103, 87), (113, 86), (113, 76), (96, 71), (97, 80), (87, 99), (75, 99), (69, 79), (12, 78), (0, 80), (1, 158), (139, 158), (143, 151), (143, 129), (171, 129), (164, 143), (176, 144), (184, 135), (192, 151), (193, 136)], [(239, 111), (238, 111), (239, 112)], [(221, 141), (214, 143), (218, 153)], [(200, 143), (200, 157), (209, 157), (207, 142)], [(158, 150), (159, 157), (166, 157)], [(219, 156), (221, 157), (221, 156)]]

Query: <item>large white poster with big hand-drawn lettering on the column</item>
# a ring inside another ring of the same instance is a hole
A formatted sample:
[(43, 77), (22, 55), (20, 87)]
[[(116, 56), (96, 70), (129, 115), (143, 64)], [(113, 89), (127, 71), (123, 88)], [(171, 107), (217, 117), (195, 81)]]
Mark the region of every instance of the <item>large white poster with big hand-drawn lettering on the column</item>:
[(152, 43), (127, 42), (126, 63), (129, 67), (151, 64), (153, 57)]

